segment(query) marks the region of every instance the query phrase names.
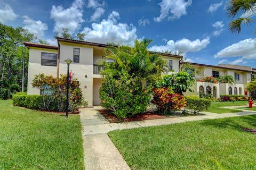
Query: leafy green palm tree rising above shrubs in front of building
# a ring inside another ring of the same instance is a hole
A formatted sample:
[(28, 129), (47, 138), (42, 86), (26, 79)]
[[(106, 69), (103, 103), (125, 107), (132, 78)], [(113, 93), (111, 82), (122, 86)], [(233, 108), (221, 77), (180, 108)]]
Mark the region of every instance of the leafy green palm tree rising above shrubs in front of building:
[[(157, 77), (168, 70), (167, 61), (161, 55), (150, 54), (148, 46), (152, 42), (150, 39), (138, 39), (134, 41), (134, 46), (108, 46), (104, 49), (105, 60), (102, 75), (111, 74), (118, 77), (122, 70), (127, 71), (133, 77), (139, 77), (142, 89), (149, 86)], [(108, 62), (109, 59), (113, 62)]]

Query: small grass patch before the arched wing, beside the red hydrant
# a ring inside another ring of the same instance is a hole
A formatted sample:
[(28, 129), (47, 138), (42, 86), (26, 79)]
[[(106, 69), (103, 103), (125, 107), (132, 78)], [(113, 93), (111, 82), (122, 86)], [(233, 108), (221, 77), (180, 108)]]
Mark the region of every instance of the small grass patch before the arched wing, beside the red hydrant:
[(247, 104), (248, 101), (222, 101), (222, 102), (212, 102), (210, 108), (206, 112), (212, 113), (234, 113), (234, 112), (241, 112), (236, 109), (229, 109), (229, 108), (220, 108), (223, 106), (243, 106)]

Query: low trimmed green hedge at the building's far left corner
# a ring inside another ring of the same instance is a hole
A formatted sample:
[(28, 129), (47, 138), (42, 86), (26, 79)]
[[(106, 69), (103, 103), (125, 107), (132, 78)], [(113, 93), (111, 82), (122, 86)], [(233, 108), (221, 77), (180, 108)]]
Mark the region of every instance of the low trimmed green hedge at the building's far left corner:
[(12, 97), (13, 105), (30, 109), (40, 109), (43, 103), (41, 95), (15, 94)]

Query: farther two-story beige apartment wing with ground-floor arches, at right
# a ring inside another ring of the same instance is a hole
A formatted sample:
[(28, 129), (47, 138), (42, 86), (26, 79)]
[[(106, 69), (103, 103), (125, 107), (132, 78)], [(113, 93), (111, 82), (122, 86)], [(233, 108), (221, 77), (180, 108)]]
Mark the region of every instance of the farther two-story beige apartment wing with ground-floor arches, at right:
[(212, 92), (215, 98), (219, 98), (220, 95), (249, 95), (249, 92), (247, 92), (245, 88), (246, 84), (251, 81), (252, 75), (254, 73), (254, 70), (250, 66), (230, 64), (189, 64), (193, 65), (195, 69), (200, 70), (199, 75), (195, 75), (197, 78), (218, 78), (223, 75), (232, 75), (235, 78), (236, 83), (210, 83), (197, 81), (196, 84), (191, 87), (193, 92), (187, 91), (185, 95), (198, 95), (199, 92)]

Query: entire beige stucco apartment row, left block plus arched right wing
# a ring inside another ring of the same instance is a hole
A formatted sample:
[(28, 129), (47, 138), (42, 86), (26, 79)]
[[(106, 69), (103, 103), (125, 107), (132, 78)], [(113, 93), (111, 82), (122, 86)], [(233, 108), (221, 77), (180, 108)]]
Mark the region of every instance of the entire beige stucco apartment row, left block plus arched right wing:
[[(101, 87), (101, 75), (99, 70), (102, 69), (98, 62), (102, 59), (105, 44), (90, 43), (86, 41), (70, 40), (57, 38), (58, 46), (42, 45), (35, 43), (24, 43), (29, 48), (28, 64), (28, 94), (40, 94), (40, 91), (31, 86), (34, 75), (44, 73), (59, 77), (60, 74), (66, 74), (67, 64), (65, 60), (70, 58), (73, 63), (70, 65), (70, 71), (81, 83), (84, 98), (88, 101), (89, 106), (100, 105), (99, 88)], [(153, 52), (150, 52), (153, 53)], [(169, 63), (171, 70), (179, 72), (181, 68), (182, 56), (161, 54)], [(256, 69), (249, 66), (238, 65), (206, 65), (198, 63), (189, 63), (195, 69), (200, 70), (196, 77), (219, 77), (221, 75), (232, 75), (236, 79), (235, 84), (228, 83), (209, 83), (197, 81), (185, 95), (198, 95), (199, 91), (207, 92), (211, 90), (213, 96), (218, 98), (220, 95), (235, 94), (249, 95), (245, 91), (246, 84), (251, 80), (252, 73)]]

